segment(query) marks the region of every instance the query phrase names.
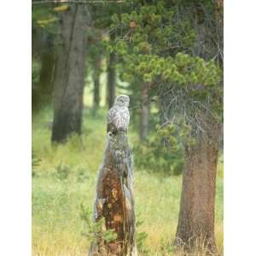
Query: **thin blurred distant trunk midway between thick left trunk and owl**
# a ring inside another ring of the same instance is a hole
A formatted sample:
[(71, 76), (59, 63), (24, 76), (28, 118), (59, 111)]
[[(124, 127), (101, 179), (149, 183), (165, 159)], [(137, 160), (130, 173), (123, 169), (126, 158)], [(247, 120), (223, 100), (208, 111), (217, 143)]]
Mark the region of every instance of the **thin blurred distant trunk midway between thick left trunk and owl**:
[(94, 67), (93, 67), (93, 108), (94, 112), (100, 106), (100, 75), (101, 75), (101, 56), (96, 56), (94, 60)]

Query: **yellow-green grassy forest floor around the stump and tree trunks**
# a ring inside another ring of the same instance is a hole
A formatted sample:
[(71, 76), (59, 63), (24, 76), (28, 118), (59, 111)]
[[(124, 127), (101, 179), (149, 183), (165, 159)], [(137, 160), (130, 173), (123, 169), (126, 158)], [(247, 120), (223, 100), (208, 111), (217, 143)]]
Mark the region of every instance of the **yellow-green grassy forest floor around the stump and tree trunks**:
[[(96, 118), (84, 111), (82, 143), (72, 137), (58, 148), (50, 145), (52, 112), (44, 108), (33, 116), (32, 148), (40, 160), (32, 171), (32, 255), (87, 255), (90, 241), (82, 236), (80, 205), (93, 207), (96, 173), (106, 143), (106, 112)], [(129, 131), (131, 145), (137, 132)], [(137, 157), (136, 155), (134, 157)], [(61, 164), (61, 165), (60, 165)], [(135, 166), (137, 232), (148, 237), (140, 255), (177, 255), (172, 241), (177, 228), (182, 176), (164, 177)], [(223, 252), (223, 163), (218, 163), (216, 242)]]

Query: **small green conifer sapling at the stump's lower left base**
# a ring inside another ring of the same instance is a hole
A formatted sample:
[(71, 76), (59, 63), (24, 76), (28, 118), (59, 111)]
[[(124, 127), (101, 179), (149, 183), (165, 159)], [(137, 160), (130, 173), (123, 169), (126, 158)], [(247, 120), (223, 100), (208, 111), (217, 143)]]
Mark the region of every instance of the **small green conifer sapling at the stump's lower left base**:
[(84, 221), (84, 230), (82, 232), (83, 236), (86, 236), (89, 241), (97, 242), (97, 241), (114, 241), (117, 238), (117, 234), (114, 230), (106, 230), (104, 228), (105, 219), (101, 218), (96, 222), (91, 220), (92, 212), (89, 208), (84, 207), (81, 204), (80, 218)]

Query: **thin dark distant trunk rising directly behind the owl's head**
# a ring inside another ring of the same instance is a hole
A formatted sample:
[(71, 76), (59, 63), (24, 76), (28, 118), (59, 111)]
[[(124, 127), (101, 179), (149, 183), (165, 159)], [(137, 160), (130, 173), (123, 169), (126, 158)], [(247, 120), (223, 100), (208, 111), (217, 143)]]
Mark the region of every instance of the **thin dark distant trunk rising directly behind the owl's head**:
[[(114, 35), (110, 35), (110, 39), (114, 40)], [(107, 104), (108, 108), (113, 107), (114, 99), (115, 99), (115, 84), (116, 84), (116, 73), (115, 73), (115, 54), (112, 52), (109, 55), (108, 62), (108, 88), (107, 88)]]

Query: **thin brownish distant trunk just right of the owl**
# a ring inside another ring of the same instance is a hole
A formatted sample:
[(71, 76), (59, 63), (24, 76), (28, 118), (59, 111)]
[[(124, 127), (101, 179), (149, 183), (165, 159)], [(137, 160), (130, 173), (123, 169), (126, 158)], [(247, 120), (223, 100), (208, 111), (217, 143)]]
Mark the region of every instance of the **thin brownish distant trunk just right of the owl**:
[(149, 83), (143, 84), (141, 90), (141, 112), (140, 112), (140, 140), (145, 141), (148, 137), (148, 119), (150, 114), (150, 105), (148, 99)]

